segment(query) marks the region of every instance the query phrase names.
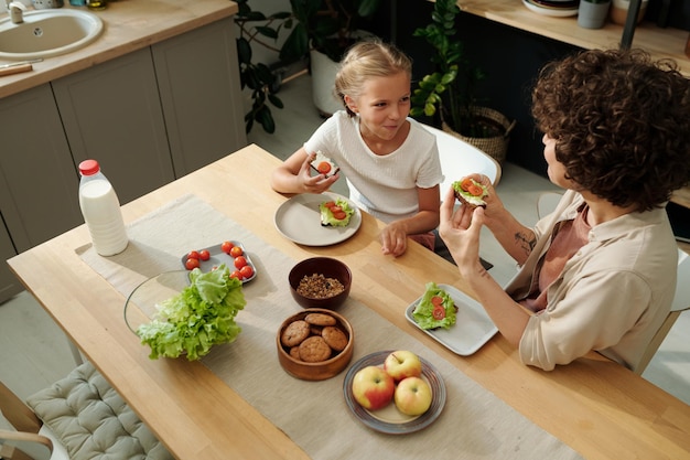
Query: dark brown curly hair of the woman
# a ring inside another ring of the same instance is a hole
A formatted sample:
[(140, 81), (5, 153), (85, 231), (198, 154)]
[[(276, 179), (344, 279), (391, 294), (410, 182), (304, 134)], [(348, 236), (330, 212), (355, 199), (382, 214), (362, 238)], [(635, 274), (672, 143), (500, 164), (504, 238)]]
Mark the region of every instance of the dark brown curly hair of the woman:
[(547, 64), (537, 127), (567, 178), (614, 205), (662, 206), (690, 179), (690, 81), (642, 50), (592, 50)]

